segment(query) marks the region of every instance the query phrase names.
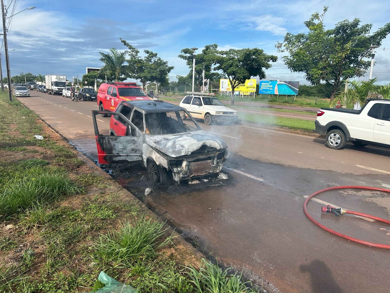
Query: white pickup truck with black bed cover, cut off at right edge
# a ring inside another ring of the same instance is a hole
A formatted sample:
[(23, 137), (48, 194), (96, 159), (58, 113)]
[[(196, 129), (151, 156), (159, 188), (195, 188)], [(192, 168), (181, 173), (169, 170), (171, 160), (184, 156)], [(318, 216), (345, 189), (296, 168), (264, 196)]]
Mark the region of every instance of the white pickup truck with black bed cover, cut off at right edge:
[(360, 110), (321, 108), (315, 125), (313, 131), (326, 136), (325, 145), (335, 150), (347, 141), (356, 147), (390, 147), (390, 100), (367, 99)]

